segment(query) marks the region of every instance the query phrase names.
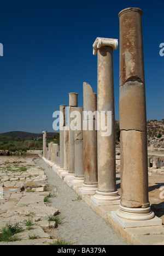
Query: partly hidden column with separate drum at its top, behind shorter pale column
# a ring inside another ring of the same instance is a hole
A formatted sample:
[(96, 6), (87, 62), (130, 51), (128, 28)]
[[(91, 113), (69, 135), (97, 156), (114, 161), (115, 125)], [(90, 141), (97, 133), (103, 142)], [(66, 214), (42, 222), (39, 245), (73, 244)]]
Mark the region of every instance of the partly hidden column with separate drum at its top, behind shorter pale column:
[(74, 178), (75, 166), (74, 166), (74, 130), (71, 126), (74, 126), (74, 118), (72, 114), (74, 108), (78, 107), (78, 93), (69, 93), (69, 147), (68, 147), (68, 175), (65, 177), (66, 180)]

